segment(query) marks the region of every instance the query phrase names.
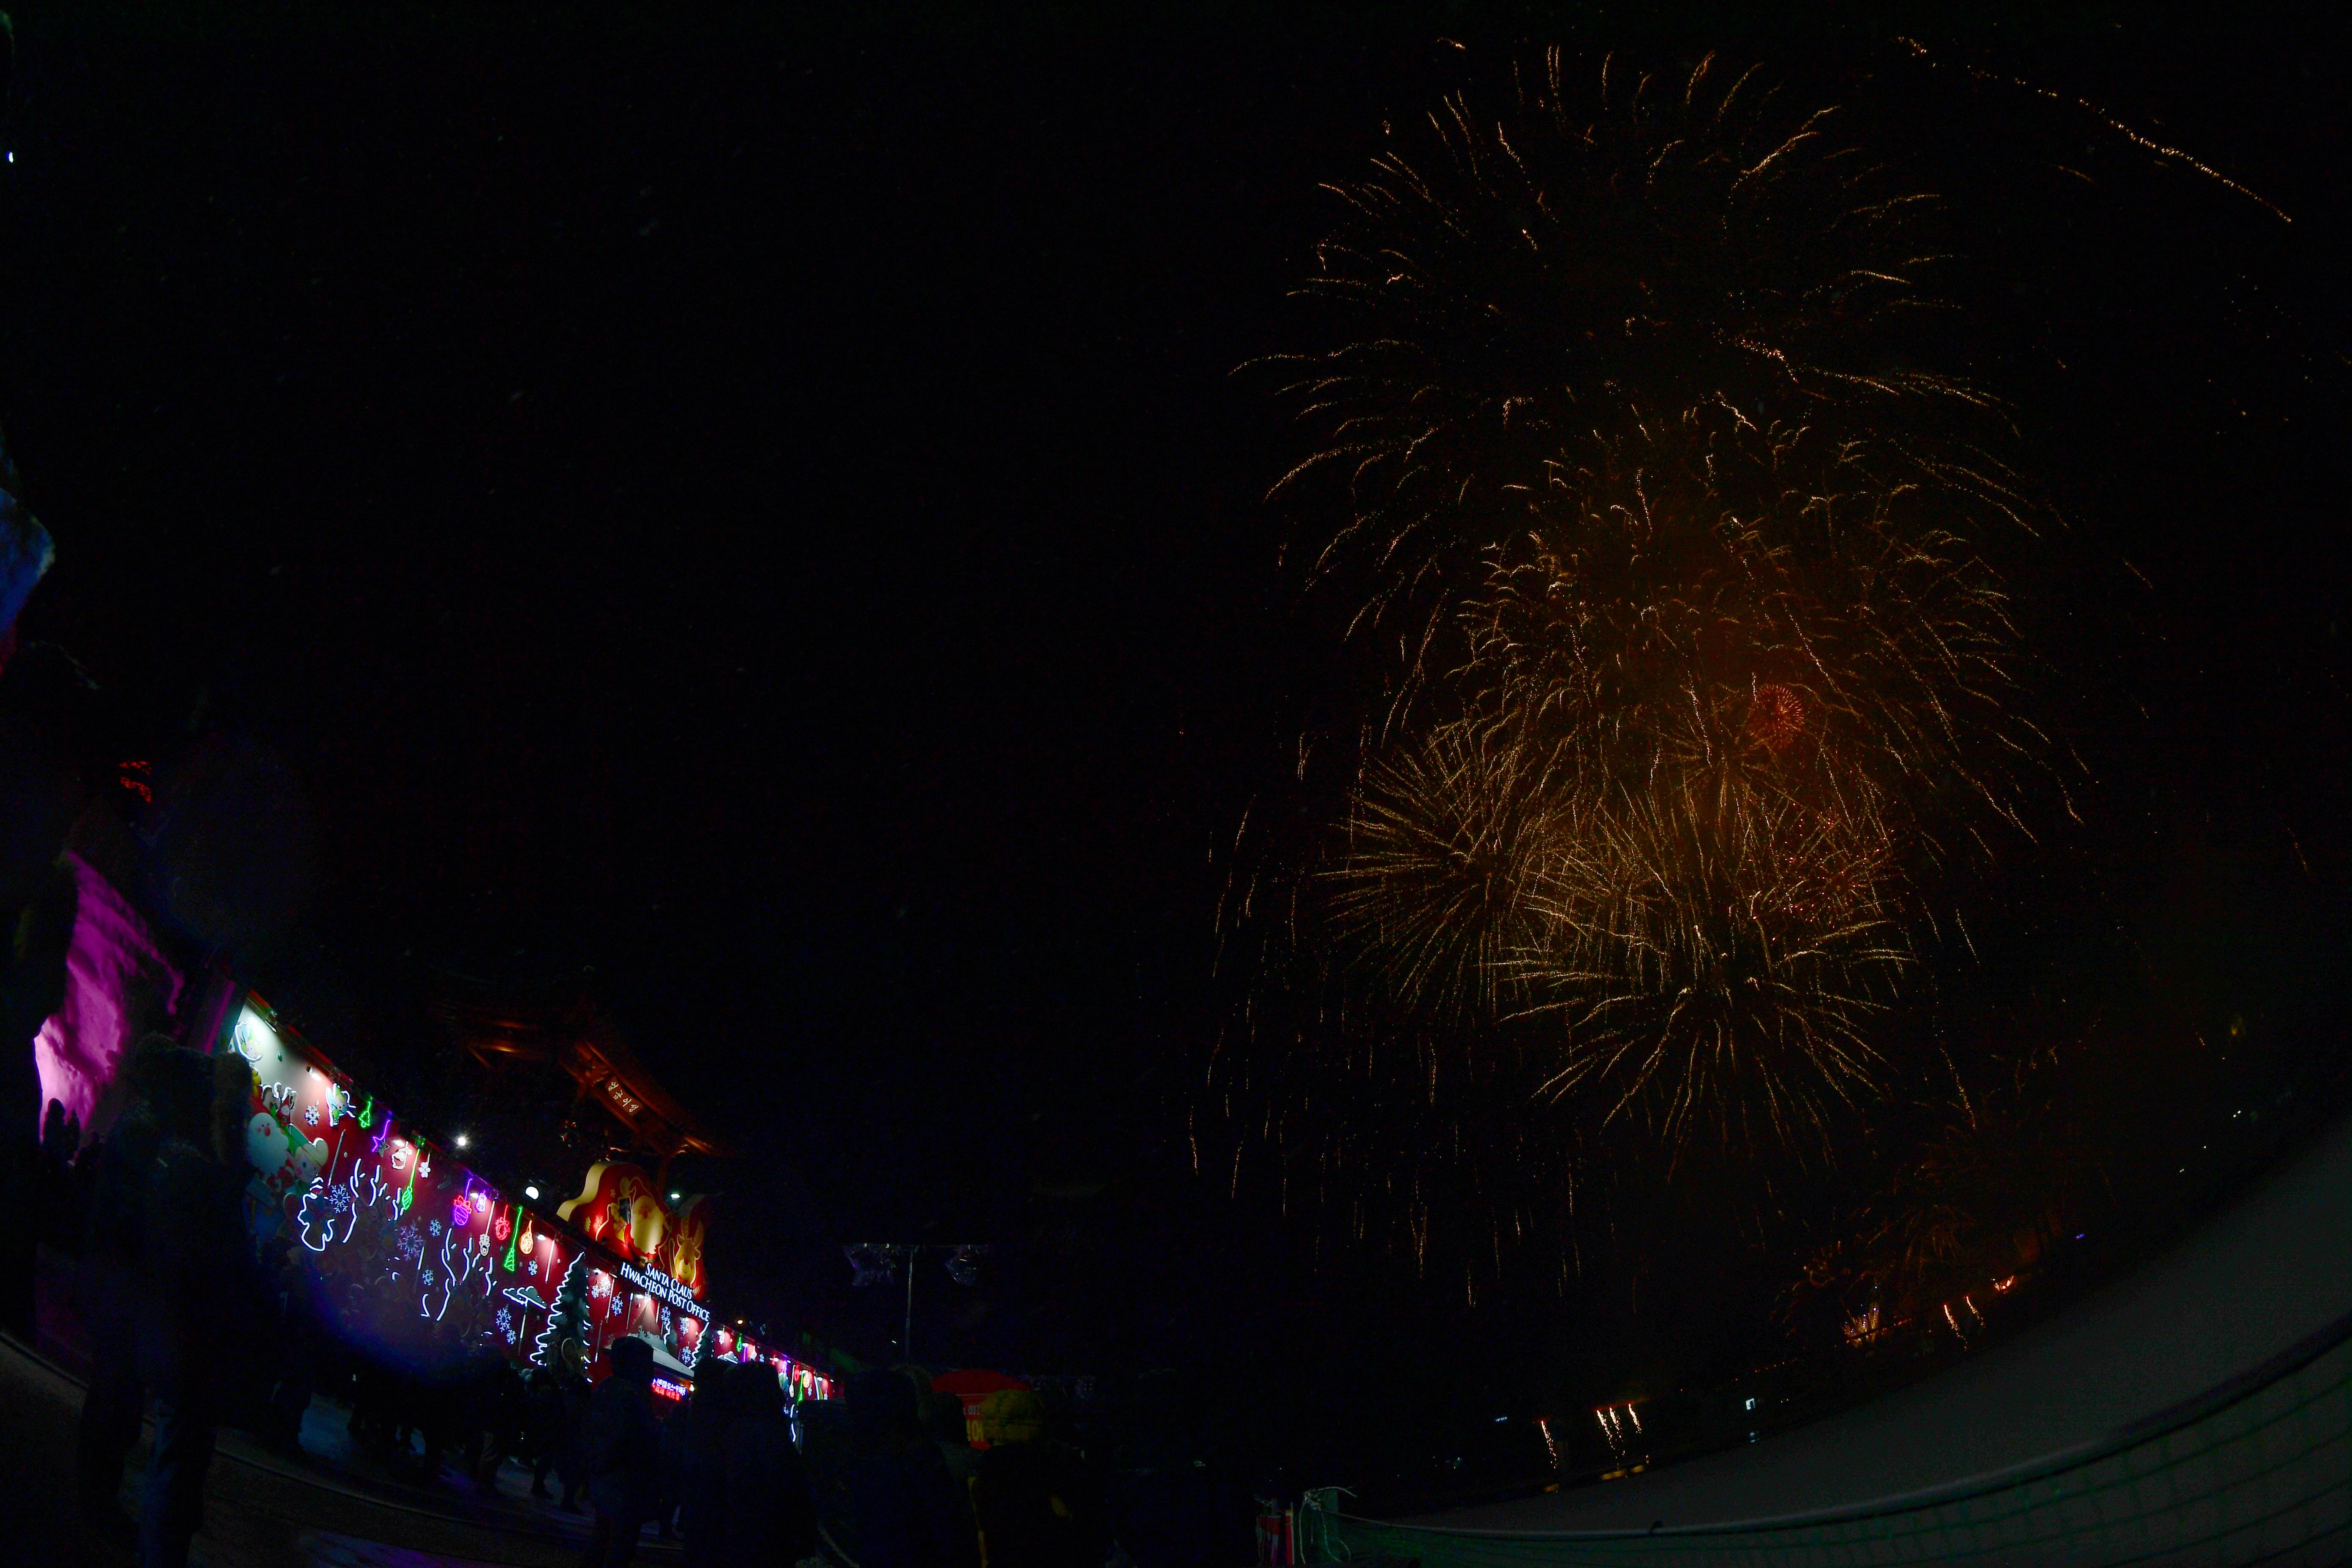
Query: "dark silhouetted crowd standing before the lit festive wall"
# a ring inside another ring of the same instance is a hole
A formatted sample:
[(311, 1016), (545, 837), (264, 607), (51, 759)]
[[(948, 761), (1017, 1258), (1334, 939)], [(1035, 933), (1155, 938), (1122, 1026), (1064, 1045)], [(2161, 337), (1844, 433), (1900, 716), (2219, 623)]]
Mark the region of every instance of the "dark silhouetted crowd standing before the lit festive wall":
[[(1000, 1396), (997, 1441), (976, 1450), (962, 1399), (917, 1368), (861, 1371), (835, 1401), (788, 1406), (774, 1366), (717, 1356), (691, 1392), (666, 1399), (640, 1338), (609, 1347), (595, 1387), (576, 1342), (555, 1342), (534, 1368), (487, 1345), (454, 1363), (355, 1347), (325, 1321), (303, 1253), (282, 1237), (256, 1246), (245, 1222), (245, 1060), (148, 1037), (127, 1086), (106, 1138), (85, 1145), (80, 1128), (52, 1126), (42, 1182), (52, 1213), (73, 1215), (54, 1239), (78, 1253), (73, 1307), (92, 1352), (78, 1505), (136, 1542), (141, 1563), (186, 1563), (216, 1429), (301, 1453), (320, 1392), (348, 1401), (353, 1450), (395, 1479), (454, 1472), (489, 1490), (501, 1467), (520, 1467), (532, 1495), (588, 1514), (588, 1568), (633, 1561), (647, 1535), (708, 1566), (1115, 1561), (1101, 1474), (1037, 1394)], [(118, 1495), (151, 1410), (134, 1519)]]

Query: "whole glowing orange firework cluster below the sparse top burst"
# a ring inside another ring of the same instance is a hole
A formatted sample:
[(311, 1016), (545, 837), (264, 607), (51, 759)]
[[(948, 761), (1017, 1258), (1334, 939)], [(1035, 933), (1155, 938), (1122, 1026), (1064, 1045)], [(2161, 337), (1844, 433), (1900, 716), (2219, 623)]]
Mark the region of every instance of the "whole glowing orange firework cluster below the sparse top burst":
[(1489, 552), (1463, 715), (1369, 764), (1331, 917), (1406, 1001), (1550, 1016), (1538, 1095), (1613, 1081), (1609, 1121), (1665, 1084), (1670, 1140), (1799, 1140), (1872, 1084), (1936, 780), (2016, 813), (1971, 766), (1997, 578), (1966, 491), (1851, 447), (1715, 409), (1604, 456)]

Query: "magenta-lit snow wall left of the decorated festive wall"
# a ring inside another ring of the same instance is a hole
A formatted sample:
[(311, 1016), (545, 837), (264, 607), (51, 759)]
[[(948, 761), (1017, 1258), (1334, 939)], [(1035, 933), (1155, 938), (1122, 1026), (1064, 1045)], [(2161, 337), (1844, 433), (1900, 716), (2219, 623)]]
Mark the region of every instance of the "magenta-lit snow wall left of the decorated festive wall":
[(66, 1001), (33, 1039), (40, 1067), (40, 1107), (49, 1100), (82, 1121), (82, 1135), (103, 1131), (99, 1112), (111, 1121), (120, 1095), (106, 1091), (115, 1081), (134, 1027), (127, 1006), (132, 980), (146, 980), (165, 1009), (176, 1006), (181, 976), (165, 961), (146, 922), (122, 900), (106, 877), (80, 856), (73, 882), (80, 905), (73, 912), (73, 947), (66, 954)]

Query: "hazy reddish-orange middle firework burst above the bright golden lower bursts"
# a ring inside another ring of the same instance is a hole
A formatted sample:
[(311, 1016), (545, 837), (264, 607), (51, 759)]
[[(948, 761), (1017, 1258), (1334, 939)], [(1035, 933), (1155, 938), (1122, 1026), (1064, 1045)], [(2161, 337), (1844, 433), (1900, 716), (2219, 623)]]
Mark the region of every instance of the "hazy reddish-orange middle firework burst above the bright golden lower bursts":
[[(1740, 750), (1769, 689), (1766, 755), (1835, 743), (1891, 785), (1966, 773), (2013, 729), (2016, 637), (1971, 543), (2011, 517), (1999, 491), (1717, 404), (1557, 465), (1522, 517), (1463, 595), (1456, 686), (1562, 745), (1698, 703), (1691, 743)], [(1990, 778), (1978, 792), (2013, 816)]]

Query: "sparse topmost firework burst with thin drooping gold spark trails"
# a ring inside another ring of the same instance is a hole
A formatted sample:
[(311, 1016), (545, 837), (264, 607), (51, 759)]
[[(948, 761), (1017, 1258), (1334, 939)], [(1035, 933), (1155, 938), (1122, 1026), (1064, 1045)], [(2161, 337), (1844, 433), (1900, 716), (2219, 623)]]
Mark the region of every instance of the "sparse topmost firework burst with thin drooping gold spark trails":
[(1345, 216), (1298, 292), (1343, 341), (1263, 362), (1289, 371), (1310, 433), (1272, 494), (1343, 477), (1348, 522), (1315, 574), (1376, 583), (1359, 625), (1494, 543), (1512, 487), (1635, 404), (1863, 400), (1882, 425), (1985, 404), (1955, 376), (1886, 369), (1938, 306), (1929, 193), (1757, 71), (1710, 56), (1679, 94), (1609, 80), (1583, 101), (1555, 49), (1498, 118), (1456, 94), (1371, 176), (1327, 186)]

